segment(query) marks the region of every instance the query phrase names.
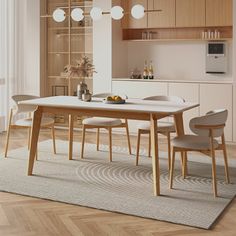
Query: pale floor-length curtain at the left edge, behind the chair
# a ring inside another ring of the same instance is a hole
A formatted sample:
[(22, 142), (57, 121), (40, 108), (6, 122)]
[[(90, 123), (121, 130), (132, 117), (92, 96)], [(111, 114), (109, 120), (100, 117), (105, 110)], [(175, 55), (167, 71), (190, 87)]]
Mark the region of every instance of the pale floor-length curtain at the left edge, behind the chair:
[(39, 1), (0, 0), (0, 131), (15, 94), (39, 94)]

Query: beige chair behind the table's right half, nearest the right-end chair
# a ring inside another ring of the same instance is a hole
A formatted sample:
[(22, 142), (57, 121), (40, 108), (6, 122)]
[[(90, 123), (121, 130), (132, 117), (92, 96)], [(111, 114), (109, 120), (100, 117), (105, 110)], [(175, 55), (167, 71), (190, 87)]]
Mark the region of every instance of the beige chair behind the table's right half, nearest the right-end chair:
[[(144, 100), (153, 100), (153, 101), (170, 101), (175, 103), (183, 103), (184, 99), (176, 96), (152, 96), (146, 97)], [(170, 170), (170, 159), (171, 159), (171, 145), (170, 145), (170, 134), (175, 133), (175, 123), (158, 121), (158, 133), (163, 134), (167, 137), (168, 141), (168, 168)], [(148, 147), (148, 156), (151, 156), (151, 140), (150, 140), (150, 122), (142, 122), (138, 126), (138, 140), (137, 140), (137, 153), (136, 153), (136, 165), (139, 161), (139, 148), (140, 148), (140, 139), (142, 134), (149, 134), (149, 147)]]

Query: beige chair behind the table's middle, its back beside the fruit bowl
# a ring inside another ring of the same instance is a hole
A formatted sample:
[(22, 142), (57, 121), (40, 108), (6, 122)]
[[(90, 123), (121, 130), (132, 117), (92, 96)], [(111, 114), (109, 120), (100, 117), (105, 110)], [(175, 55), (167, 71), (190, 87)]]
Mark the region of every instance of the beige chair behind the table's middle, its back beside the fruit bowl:
[[(112, 96), (111, 93), (101, 93), (93, 95), (94, 98), (104, 99), (107, 96)], [(81, 158), (84, 158), (84, 143), (85, 143), (85, 133), (87, 129), (97, 129), (97, 151), (99, 151), (99, 133), (100, 129), (106, 129), (109, 132), (109, 152), (110, 152), (110, 161), (112, 161), (112, 129), (113, 128), (125, 128), (128, 140), (128, 149), (129, 154), (131, 154), (131, 144), (129, 138), (129, 128), (128, 121), (125, 119), (122, 122), (121, 119), (106, 118), (106, 117), (91, 117), (83, 120), (83, 133), (82, 133), (82, 144), (81, 144)]]

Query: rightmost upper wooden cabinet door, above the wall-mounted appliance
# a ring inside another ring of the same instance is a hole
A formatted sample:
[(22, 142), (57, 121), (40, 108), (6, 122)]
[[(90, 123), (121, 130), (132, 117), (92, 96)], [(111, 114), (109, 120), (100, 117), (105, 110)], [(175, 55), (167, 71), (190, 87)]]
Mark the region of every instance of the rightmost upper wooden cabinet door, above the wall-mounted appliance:
[(232, 26), (232, 0), (206, 0), (206, 26)]

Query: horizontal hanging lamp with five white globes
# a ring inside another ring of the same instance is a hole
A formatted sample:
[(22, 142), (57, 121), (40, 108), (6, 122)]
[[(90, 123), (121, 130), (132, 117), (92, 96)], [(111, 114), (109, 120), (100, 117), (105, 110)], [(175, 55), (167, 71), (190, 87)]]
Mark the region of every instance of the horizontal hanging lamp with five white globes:
[[(80, 7), (78, 6), (73, 6), (73, 10), (71, 11), (70, 17), (74, 21), (81, 21), (84, 19), (85, 16), (90, 15), (91, 18), (96, 21), (100, 20), (103, 15), (111, 15), (111, 18), (114, 20), (120, 20), (123, 18), (125, 14), (131, 14), (133, 18), (135, 19), (141, 19), (145, 16), (146, 12), (160, 12), (162, 10), (157, 9), (157, 10), (145, 10), (145, 8), (140, 5), (136, 4), (132, 7), (131, 13), (126, 13), (124, 12), (124, 9), (121, 6), (114, 6), (111, 8), (110, 11), (102, 11), (100, 7), (93, 7), (90, 11), (90, 13), (84, 12)], [(66, 12), (62, 8), (57, 8), (54, 10), (52, 16), (50, 15), (45, 15), (41, 17), (52, 17), (56, 22), (63, 22), (66, 17)]]

